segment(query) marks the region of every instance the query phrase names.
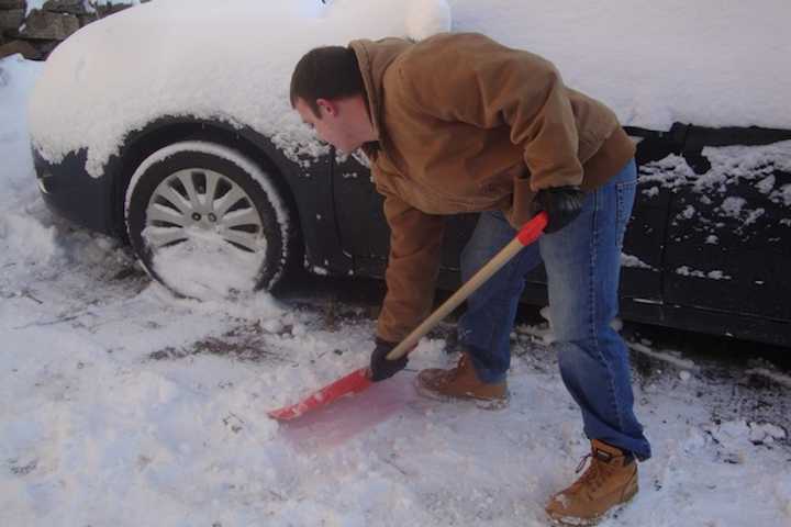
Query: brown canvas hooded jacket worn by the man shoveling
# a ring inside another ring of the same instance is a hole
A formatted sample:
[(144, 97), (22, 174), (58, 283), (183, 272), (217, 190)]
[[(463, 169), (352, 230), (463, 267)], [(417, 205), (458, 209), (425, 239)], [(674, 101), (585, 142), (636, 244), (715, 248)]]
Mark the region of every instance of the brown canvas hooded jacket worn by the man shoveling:
[(443, 216), (501, 210), (519, 228), (535, 192), (594, 189), (633, 156), (615, 114), (531, 53), (479, 34), (354, 41), (379, 141), (367, 145), (391, 231), (377, 334), (428, 314)]

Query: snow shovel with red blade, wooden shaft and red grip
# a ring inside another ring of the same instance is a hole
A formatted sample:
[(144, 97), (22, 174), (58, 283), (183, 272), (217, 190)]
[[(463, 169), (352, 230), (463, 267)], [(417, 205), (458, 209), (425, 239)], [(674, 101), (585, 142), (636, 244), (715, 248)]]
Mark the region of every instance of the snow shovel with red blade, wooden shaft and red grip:
[[(500, 253), (487, 262), (478, 272), (476, 272), (467, 282), (456, 291), (453, 296), (446, 300), (439, 307), (434, 311), (423, 323), (414, 328), (401, 344), (396, 346), (389, 354), (388, 359), (400, 359), (410, 352), (423, 336), (434, 328), (443, 318), (445, 318), (453, 310), (472, 294), (483, 282), (494, 274), (501, 267), (508, 264), (522, 248), (532, 244), (544, 232), (547, 224), (546, 212), (541, 212), (530, 222), (525, 223), (522, 229), (516, 234), (509, 245), (503, 247)], [(268, 413), (269, 417), (277, 421), (291, 421), (312, 410), (326, 406), (338, 397), (359, 393), (372, 384), (368, 367), (359, 368), (326, 386), (308, 395), (302, 401), (290, 406), (274, 410)]]

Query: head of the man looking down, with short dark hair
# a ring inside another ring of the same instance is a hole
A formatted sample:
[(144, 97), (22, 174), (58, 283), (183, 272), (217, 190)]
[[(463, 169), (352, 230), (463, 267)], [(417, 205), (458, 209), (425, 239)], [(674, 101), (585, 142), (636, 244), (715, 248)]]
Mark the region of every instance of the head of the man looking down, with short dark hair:
[(347, 47), (312, 49), (291, 75), (291, 106), (322, 141), (343, 152), (377, 138), (365, 97), (357, 57)]

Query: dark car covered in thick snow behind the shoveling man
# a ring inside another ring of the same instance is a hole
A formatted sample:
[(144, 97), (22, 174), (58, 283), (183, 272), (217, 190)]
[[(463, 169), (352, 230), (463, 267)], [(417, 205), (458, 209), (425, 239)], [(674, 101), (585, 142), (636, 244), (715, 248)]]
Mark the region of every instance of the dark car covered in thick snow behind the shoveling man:
[[(791, 346), (789, 13), (768, 5), (706, 21), (679, 1), (154, 1), (48, 58), (29, 109), (38, 184), (176, 294), (271, 290), (300, 265), (383, 278), (369, 167), (301, 123), (293, 65), (354, 38), (481, 32), (552, 59), (637, 143), (621, 316)], [(476, 217), (448, 218), (443, 288), (458, 287)], [(545, 284), (537, 269), (524, 302), (545, 304)]]

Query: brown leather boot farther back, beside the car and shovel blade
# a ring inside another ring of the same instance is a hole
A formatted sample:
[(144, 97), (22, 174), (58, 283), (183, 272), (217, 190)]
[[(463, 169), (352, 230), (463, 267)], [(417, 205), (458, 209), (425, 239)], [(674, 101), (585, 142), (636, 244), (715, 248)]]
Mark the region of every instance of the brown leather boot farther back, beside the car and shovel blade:
[(504, 406), (508, 402), (508, 383), (481, 382), (467, 352), (461, 355), (456, 368), (433, 368), (417, 373), (417, 391), (433, 399), (475, 400), (483, 403), (481, 406), (491, 408)]

